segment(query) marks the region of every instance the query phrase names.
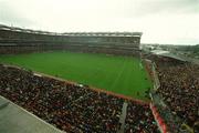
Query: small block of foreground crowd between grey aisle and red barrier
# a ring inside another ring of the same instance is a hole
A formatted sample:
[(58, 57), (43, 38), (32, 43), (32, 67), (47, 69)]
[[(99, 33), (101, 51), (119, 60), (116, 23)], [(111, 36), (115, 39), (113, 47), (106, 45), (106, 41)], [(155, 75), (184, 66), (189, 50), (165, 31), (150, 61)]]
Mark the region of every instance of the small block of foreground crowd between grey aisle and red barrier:
[(150, 110), (148, 104), (128, 102), (125, 132), (160, 133), (159, 130), (157, 130), (157, 123), (154, 121), (153, 113), (148, 110)]

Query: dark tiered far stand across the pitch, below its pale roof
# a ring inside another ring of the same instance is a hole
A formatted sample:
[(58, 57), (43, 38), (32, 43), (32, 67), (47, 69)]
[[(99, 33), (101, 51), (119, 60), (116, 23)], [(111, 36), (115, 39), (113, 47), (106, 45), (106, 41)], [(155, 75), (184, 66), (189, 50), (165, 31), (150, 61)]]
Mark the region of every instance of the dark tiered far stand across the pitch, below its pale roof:
[(104, 33), (38, 33), (0, 28), (0, 54), (66, 50), (139, 55), (140, 35)]

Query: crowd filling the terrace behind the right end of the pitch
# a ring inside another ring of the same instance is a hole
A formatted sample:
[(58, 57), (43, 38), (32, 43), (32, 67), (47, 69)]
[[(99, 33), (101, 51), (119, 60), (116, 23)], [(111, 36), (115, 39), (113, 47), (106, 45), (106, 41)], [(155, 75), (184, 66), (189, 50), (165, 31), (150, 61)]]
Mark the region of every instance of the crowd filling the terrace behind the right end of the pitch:
[(189, 126), (199, 122), (199, 65), (153, 57), (157, 64), (160, 94), (172, 113)]

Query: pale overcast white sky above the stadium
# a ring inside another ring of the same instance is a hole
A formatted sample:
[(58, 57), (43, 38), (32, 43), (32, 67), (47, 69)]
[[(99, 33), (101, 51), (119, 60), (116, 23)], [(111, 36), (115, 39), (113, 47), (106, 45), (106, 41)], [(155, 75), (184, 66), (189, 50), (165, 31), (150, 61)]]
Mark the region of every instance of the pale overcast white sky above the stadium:
[(199, 0), (0, 0), (0, 23), (53, 32), (138, 31), (142, 43), (198, 44)]

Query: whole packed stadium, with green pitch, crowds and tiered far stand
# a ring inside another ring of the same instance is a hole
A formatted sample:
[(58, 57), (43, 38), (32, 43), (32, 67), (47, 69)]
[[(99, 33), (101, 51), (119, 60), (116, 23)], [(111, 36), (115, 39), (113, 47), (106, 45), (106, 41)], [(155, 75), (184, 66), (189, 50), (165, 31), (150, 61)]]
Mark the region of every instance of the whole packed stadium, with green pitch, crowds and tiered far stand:
[(0, 95), (56, 132), (195, 132), (199, 66), (146, 53), (140, 39), (0, 25)]

